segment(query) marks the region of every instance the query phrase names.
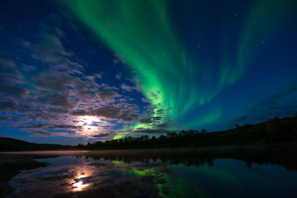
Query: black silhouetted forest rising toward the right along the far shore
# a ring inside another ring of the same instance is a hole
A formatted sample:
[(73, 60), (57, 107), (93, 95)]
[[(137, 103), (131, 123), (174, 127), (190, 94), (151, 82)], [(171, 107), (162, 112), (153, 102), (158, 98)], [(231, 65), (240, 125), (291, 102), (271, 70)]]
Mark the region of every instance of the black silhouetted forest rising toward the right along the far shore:
[(269, 119), (266, 122), (255, 125), (239, 126), (234, 129), (221, 132), (210, 132), (202, 129), (167, 132), (167, 135), (160, 135), (158, 138), (148, 135), (141, 137), (125, 137), (88, 142), (86, 145), (78, 144), (77, 149), (122, 149), (122, 148), (164, 148), (164, 147), (189, 147), (207, 145), (229, 145), (245, 143), (273, 143), (288, 142), (297, 140), (297, 114), (294, 117)]

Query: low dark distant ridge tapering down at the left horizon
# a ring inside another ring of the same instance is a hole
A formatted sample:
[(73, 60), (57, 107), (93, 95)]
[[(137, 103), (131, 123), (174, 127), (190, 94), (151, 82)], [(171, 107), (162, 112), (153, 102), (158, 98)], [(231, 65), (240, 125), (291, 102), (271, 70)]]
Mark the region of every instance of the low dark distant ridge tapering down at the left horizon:
[(37, 144), (37, 143), (30, 143), (19, 139), (0, 137), (0, 152), (1, 151), (66, 149), (71, 147), (72, 146), (70, 145)]

